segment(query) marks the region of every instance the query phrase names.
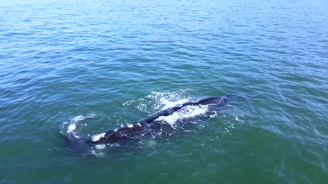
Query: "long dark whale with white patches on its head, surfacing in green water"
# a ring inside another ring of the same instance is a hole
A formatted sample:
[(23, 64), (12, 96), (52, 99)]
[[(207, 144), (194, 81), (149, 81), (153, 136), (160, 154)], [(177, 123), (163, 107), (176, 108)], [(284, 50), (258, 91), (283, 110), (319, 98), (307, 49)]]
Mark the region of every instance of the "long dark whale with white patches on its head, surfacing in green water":
[(113, 128), (104, 133), (95, 135), (91, 138), (91, 140), (83, 140), (75, 135), (75, 132), (67, 132), (66, 140), (70, 143), (71, 148), (81, 148), (85, 145), (93, 145), (102, 141), (108, 141), (118, 138), (127, 138), (132, 135), (142, 133), (144, 129), (149, 129), (154, 127), (156, 124), (156, 119), (162, 116), (170, 116), (174, 112), (181, 110), (183, 107), (188, 105), (209, 105), (209, 106), (223, 106), (227, 103), (227, 99), (232, 97), (233, 95), (225, 95), (225, 96), (215, 96), (208, 97), (204, 99), (200, 99), (196, 102), (186, 102), (181, 104), (181, 106), (170, 107), (164, 109), (153, 116), (142, 119), (134, 124), (129, 124), (123, 127)]

